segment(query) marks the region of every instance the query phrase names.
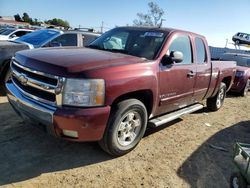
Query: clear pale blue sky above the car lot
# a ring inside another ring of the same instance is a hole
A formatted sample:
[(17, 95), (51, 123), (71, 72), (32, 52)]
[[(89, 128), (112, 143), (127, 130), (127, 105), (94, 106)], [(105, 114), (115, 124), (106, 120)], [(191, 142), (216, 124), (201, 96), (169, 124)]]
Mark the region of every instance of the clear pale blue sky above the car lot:
[[(27, 12), (40, 21), (61, 18), (72, 27), (104, 28), (132, 25), (137, 13), (147, 13), (151, 0), (0, 0), (0, 15)], [(237, 32), (250, 33), (250, 0), (152, 0), (164, 11), (163, 27), (204, 35), (209, 45), (225, 47)]]

